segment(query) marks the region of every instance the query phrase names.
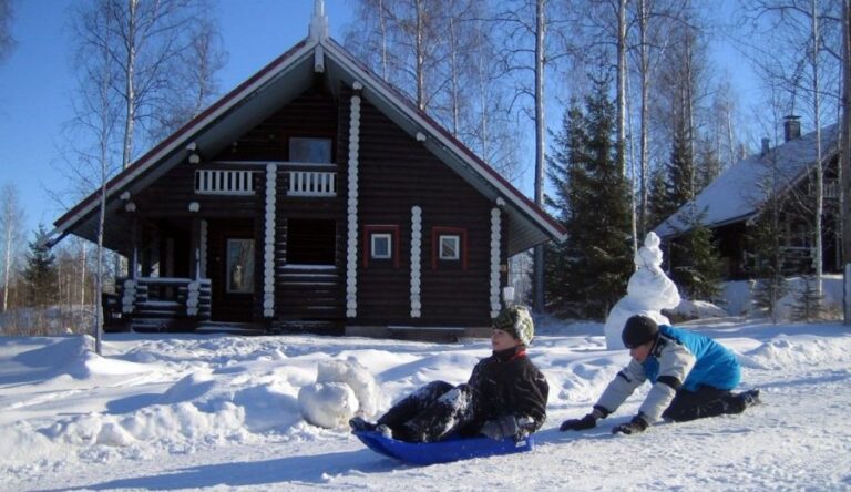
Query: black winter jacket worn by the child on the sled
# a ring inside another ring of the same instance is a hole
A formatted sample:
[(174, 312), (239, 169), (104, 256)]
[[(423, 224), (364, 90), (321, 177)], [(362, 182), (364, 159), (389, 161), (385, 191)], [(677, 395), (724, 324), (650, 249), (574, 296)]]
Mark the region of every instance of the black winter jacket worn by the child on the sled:
[(514, 416), (534, 432), (546, 420), (550, 385), (526, 357), (525, 348), (494, 352), (473, 368), (468, 387), (473, 393), (475, 421), (482, 424), (503, 416)]

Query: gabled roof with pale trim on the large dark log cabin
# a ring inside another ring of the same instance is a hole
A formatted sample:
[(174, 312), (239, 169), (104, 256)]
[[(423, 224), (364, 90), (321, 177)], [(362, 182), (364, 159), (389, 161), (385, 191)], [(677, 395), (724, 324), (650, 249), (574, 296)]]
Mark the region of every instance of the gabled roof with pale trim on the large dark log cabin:
[[(246, 129), (259, 124), (314, 83), (316, 72), (325, 72), (332, 91), (340, 82), (362, 86), (362, 95), (409, 135), (426, 136), (422, 144), (464, 181), (510, 216), (509, 254), (513, 255), (550, 239), (562, 240), (564, 228), (541, 207), (532, 203), (472, 151), (398, 91), (359, 63), (331, 38), (310, 35), (294, 45), (255, 75), (227, 93), (206, 111), (186, 123), (144, 154), (126, 170), (110, 180), (107, 214), (121, 206), (120, 195), (132, 195), (168, 170), (186, 161), (189, 144), (205, 155), (225, 148)], [(68, 234), (92, 239), (96, 230), (99, 192), (91, 194), (55, 223), (51, 243)], [(119, 221), (114, 214), (110, 221)]]

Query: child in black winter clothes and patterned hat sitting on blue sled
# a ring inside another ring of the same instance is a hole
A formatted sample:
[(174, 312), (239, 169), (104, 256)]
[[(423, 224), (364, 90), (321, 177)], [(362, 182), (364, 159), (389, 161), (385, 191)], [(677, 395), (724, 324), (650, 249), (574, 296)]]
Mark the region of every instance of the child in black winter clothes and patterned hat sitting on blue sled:
[(526, 357), (534, 324), (522, 306), (502, 310), (493, 321), (493, 355), (473, 368), (470, 380), (453, 387), (434, 381), (418, 389), (376, 422), (349, 421), (353, 431), (375, 430), (406, 442), (435, 442), (452, 435), (521, 439), (546, 419), (546, 378)]

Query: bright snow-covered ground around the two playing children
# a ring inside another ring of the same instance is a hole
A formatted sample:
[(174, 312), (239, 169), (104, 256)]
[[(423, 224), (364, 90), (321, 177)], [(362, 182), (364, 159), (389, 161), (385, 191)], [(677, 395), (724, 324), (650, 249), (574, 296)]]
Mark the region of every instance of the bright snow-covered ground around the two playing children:
[(531, 453), (432, 467), (380, 457), (310, 426), (298, 391), (327, 360), (357, 359), (379, 408), (434, 380), (464, 381), (485, 340), (110, 335), (0, 338), (0, 489), (21, 490), (851, 490), (851, 330), (740, 319), (688, 327), (734, 349), (765, 404), (741, 416), (612, 435), (562, 433), (627, 355), (599, 324), (551, 325), (530, 352), (550, 386)]

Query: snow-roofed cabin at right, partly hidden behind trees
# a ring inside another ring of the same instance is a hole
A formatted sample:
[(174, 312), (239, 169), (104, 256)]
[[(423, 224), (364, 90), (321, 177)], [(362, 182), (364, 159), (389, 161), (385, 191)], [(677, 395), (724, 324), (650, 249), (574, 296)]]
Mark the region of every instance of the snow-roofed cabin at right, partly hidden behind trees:
[[(800, 199), (783, 198), (790, 198), (794, 194), (809, 206), (814, 203), (812, 178), (816, 165), (816, 132), (801, 135), (800, 122), (796, 116), (788, 116), (783, 126), (785, 142), (781, 145), (769, 148), (768, 141), (763, 140), (759, 154), (746, 157), (727, 168), (700, 192), (694, 202), (680, 207), (676, 214), (656, 227), (656, 234), (668, 247), (676, 244), (677, 238), (689, 229), (686, 217), (690, 211), (705, 213), (701, 224), (714, 233), (724, 262), (725, 278), (752, 278), (759, 257), (749, 236), (750, 228), (767, 202), (767, 183), (773, 177), (777, 184), (776, 196), (780, 197), (778, 202), (783, 204), (780, 214), (783, 232), (780, 237), (785, 257), (783, 273), (806, 275), (813, 271), (812, 213), (801, 211)], [(821, 131), (824, 273), (842, 270), (838, 132), (837, 124)]]

